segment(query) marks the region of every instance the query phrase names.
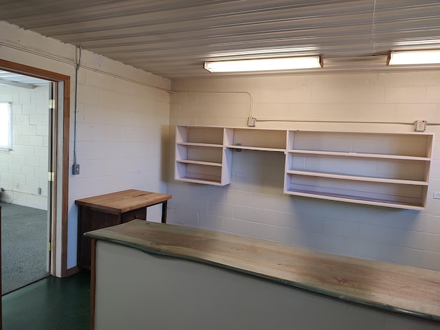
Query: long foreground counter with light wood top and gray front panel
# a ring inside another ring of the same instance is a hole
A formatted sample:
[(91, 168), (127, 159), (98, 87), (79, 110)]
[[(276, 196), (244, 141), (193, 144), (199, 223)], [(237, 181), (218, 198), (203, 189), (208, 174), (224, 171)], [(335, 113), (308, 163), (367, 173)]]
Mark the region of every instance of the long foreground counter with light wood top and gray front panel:
[(440, 329), (434, 270), (149, 221), (85, 236), (90, 329)]

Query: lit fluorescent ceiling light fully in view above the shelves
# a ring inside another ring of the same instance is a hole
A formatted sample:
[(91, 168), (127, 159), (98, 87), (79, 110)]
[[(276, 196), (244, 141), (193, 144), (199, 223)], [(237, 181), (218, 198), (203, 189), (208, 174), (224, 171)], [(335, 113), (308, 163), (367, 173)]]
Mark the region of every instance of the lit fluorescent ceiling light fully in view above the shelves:
[(205, 62), (209, 72), (251, 72), (311, 69), (322, 67), (321, 56), (297, 56), (280, 58), (256, 58), (252, 60), (232, 60)]

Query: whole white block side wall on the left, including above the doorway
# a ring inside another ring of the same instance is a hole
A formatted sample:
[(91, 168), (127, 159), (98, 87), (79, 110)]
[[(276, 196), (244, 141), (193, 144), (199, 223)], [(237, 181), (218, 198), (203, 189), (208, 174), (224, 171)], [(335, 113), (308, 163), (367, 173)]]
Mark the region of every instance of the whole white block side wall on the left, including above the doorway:
[[(69, 166), (72, 168), (78, 50), (5, 22), (0, 22), (0, 40), (2, 59), (71, 76)], [(167, 79), (83, 52), (78, 82), (80, 175), (69, 176), (67, 268), (76, 265), (75, 199), (126, 188), (165, 192), (166, 153), (162, 147), (168, 145), (164, 142), (168, 142), (170, 100), (166, 89), (170, 89)], [(138, 169), (140, 173), (136, 174)], [(149, 208), (148, 218), (160, 221), (160, 207)], [(57, 228), (60, 234), (61, 219), (57, 219)], [(61, 253), (59, 246), (57, 251)]]

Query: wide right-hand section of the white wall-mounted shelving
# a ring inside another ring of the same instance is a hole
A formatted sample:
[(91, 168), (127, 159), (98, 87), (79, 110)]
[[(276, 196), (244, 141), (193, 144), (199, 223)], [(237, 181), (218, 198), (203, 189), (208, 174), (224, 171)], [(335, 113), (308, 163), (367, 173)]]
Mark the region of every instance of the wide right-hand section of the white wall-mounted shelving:
[(433, 135), (289, 131), (289, 195), (393, 208), (426, 206)]

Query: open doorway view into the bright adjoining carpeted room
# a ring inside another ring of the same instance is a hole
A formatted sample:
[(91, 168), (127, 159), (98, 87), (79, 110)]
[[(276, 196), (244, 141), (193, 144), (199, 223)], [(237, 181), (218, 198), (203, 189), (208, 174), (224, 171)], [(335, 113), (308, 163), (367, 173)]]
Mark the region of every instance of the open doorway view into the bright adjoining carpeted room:
[(0, 70), (2, 295), (50, 275), (52, 84)]

